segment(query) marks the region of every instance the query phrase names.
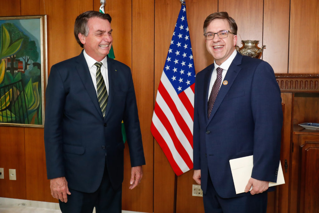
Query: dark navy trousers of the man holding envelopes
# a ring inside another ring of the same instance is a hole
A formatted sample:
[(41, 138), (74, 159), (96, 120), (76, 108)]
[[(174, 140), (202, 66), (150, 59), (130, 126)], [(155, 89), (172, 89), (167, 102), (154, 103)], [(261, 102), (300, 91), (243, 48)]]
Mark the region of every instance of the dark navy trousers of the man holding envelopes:
[(205, 213), (266, 213), (267, 192), (260, 194), (222, 198), (220, 197), (208, 177), (207, 191), (203, 194)]

